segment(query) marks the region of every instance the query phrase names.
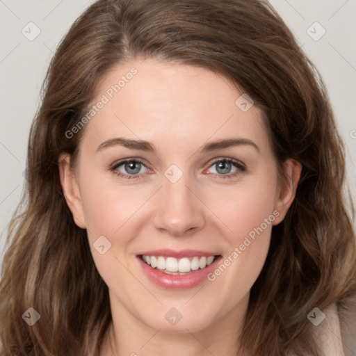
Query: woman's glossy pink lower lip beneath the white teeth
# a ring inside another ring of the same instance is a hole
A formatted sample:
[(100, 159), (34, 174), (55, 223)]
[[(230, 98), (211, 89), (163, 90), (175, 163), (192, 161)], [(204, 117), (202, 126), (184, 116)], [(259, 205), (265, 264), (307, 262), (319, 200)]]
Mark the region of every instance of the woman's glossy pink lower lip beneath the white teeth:
[(163, 273), (156, 268), (152, 268), (148, 264), (146, 264), (140, 257), (137, 257), (138, 261), (143, 268), (143, 272), (149, 280), (151, 280), (157, 286), (161, 286), (164, 289), (190, 289), (198, 284), (202, 283), (207, 279), (207, 275), (211, 273), (218, 264), (218, 261), (221, 257), (217, 257), (212, 264), (209, 266), (194, 270), (187, 275), (168, 275), (168, 273)]

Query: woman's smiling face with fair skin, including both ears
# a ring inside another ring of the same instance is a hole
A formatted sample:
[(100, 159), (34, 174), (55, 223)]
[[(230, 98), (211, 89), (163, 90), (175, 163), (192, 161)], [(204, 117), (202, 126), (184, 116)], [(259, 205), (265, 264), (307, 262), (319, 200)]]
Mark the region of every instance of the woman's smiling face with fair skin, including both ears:
[(200, 67), (131, 60), (99, 83), (74, 170), (60, 157), (122, 322), (197, 332), (243, 316), (300, 171), (287, 161), (278, 184), (262, 113), (241, 94)]

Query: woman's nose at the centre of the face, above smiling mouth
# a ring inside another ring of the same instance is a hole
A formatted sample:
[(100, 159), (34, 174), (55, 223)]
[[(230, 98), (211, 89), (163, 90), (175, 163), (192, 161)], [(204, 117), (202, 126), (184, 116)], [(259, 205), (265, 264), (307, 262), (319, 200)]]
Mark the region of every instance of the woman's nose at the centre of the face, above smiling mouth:
[(172, 236), (188, 236), (204, 227), (204, 204), (185, 175), (175, 183), (163, 177), (154, 226)]

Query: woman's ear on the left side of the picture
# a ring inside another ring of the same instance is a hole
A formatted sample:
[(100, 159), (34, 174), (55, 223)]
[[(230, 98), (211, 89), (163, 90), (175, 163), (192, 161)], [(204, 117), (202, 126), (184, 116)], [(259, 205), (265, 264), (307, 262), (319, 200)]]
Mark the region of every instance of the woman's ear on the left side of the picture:
[(79, 186), (76, 182), (74, 172), (70, 167), (70, 159), (70, 154), (60, 154), (59, 156), (58, 165), (60, 173), (60, 184), (62, 185), (65, 201), (67, 202), (70, 211), (72, 211), (74, 223), (76, 223), (76, 225), (82, 229), (86, 229)]

